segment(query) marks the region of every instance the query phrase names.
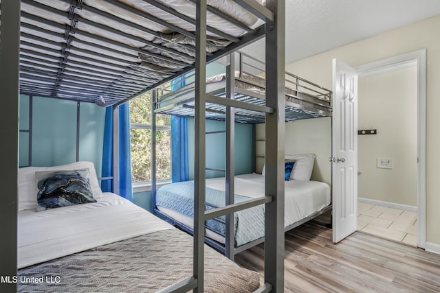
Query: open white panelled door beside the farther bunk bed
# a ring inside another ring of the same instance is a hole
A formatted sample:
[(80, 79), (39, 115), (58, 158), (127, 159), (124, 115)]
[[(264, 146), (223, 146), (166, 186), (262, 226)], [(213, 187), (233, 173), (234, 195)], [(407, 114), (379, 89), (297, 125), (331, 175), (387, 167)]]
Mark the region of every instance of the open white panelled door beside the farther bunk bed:
[(358, 228), (358, 74), (333, 59), (333, 242)]

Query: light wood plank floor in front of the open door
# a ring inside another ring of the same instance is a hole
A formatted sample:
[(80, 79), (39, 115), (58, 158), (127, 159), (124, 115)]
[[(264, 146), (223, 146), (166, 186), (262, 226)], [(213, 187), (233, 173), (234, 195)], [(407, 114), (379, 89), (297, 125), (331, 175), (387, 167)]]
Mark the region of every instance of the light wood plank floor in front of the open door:
[[(236, 256), (261, 272), (263, 244)], [(285, 233), (285, 292), (440, 292), (440, 255), (355, 232), (339, 244), (309, 222)]]

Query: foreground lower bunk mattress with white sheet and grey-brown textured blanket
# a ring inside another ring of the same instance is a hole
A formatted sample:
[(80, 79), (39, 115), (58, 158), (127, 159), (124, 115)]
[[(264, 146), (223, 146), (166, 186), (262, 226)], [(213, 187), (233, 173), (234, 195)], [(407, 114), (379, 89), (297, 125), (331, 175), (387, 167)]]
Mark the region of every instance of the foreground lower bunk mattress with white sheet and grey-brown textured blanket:
[[(190, 235), (115, 194), (21, 211), (17, 285), (19, 292), (156, 292), (192, 276), (192, 247)], [(205, 292), (259, 288), (257, 272), (208, 246), (205, 257)]]

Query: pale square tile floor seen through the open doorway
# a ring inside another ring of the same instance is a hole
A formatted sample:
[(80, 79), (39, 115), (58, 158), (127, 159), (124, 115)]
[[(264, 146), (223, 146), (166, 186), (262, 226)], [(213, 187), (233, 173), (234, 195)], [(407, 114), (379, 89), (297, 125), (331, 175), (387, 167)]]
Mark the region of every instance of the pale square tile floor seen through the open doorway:
[(358, 202), (358, 231), (417, 246), (417, 213)]

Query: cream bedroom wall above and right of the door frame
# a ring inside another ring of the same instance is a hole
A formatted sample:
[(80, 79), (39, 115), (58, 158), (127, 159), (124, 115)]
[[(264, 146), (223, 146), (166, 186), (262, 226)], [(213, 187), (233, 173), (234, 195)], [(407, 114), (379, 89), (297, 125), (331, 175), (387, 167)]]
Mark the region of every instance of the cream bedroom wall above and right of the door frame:
[(426, 113), (426, 241), (440, 248), (440, 16), (434, 16), (397, 30), (366, 38), (338, 49), (326, 51), (287, 65), (286, 70), (331, 89), (331, 60), (338, 58), (349, 65), (363, 65), (375, 60), (427, 49)]

